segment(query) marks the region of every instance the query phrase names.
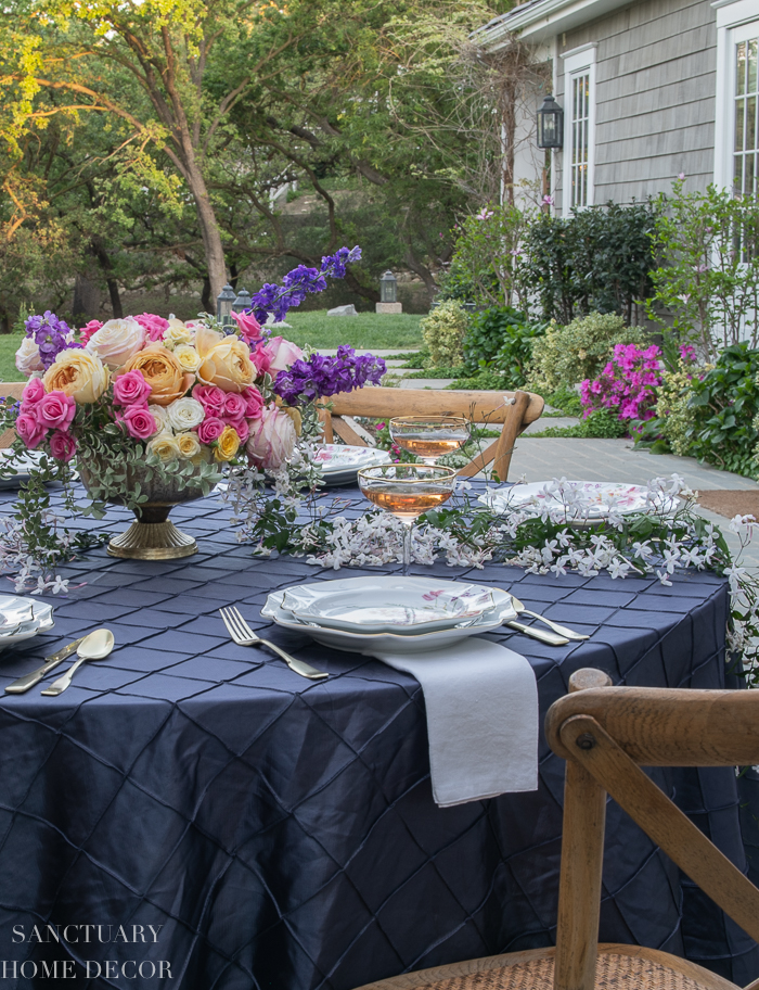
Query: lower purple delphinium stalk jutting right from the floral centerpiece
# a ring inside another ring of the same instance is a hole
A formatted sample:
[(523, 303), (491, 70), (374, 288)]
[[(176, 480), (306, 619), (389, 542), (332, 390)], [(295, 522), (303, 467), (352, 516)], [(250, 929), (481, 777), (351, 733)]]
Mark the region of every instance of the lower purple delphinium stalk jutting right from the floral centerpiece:
[(378, 385), (385, 370), (381, 357), (373, 354), (357, 357), (352, 347), (343, 344), (335, 357), (312, 354), (308, 360), (293, 361), (286, 371), (279, 372), (272, 388), (288, 406), (294, 406), (299, 401), (313, 402), (337, 392), (352, 392), (366, 382)]

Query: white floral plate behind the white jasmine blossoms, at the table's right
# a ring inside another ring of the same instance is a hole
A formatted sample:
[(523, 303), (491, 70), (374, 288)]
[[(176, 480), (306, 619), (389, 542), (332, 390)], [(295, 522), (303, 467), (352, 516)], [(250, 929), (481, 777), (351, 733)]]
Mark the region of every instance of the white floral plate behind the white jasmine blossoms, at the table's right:
[[(535, 481), (530, 484), (512, 485), (507, 488), (490, 488), (480, 495), (478, 502), (487, 505), (494, 512), (519, 511), (539, 516), (543, 507), (553, 510), (565, 510), (566, 519), (603, 520), (610, 511), (619, 516), (632, 516), (647, 512), (673, 512), (677, 498), (667, 495), (657, 496), (652, 503), (646, 497), (647, 488), (643, 485), (610, 484), (601, 481), (566, 482), (567, 505), (561, 495), (549, 494), (550, 481)], [(573, 495), (579, 496), (582, 508), (573, 510)]]

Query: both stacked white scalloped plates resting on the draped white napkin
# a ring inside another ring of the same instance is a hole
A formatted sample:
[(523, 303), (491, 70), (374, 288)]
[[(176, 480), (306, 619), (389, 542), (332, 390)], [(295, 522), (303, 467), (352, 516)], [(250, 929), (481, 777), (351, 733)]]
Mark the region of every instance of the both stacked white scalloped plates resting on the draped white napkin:
[(434, 578), (346, 578), (272, 592), (261, 609), (285, 629), (356, 652), (424, 652), (516, 618), (501, 588)]

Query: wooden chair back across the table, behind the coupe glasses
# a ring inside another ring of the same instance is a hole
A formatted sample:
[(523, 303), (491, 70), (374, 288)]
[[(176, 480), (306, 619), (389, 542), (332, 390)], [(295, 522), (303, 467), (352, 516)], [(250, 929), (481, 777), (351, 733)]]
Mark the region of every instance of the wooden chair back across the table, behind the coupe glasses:
[(323, 409), (324, 441), (332, 443), (336, 433), (348, 444), (368, 446), (365, 437), (345, 417), (365, 416), (389, 419), (394, 416), (465, 416), (475, 423), (503, 423), (498, 440), (459, 471), (472, 478), (493, 461), (501, 481), (509, 475), (516, 437), (540, 418), (545, 403), (531, 392), (438, 392), (429, 389), (366, 388), (345, 392), (330, 399), (332, 410)]

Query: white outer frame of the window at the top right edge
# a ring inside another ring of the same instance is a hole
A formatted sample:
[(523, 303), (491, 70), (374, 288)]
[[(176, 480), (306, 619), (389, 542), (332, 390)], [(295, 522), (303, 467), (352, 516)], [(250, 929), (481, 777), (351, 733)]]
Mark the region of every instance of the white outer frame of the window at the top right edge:
[(715, 113), (715, 186), (733, 188), (735, 141), (735, 46), (759, 37), (759, 0), (715, 0), (717, 12), (717, 104)]

